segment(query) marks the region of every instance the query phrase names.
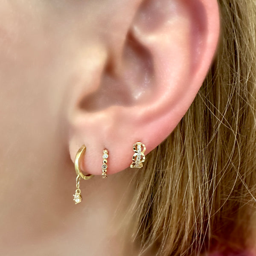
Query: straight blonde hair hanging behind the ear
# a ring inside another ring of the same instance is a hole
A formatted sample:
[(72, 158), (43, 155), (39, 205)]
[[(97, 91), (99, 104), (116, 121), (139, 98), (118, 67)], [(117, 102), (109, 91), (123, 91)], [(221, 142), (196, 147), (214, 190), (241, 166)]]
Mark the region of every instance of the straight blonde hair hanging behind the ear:
[(136, 173), (134, 239), (157, 255), (252, 241), (256, 197), (256, 6), (219, 0), (212, 67), (175, 131)]

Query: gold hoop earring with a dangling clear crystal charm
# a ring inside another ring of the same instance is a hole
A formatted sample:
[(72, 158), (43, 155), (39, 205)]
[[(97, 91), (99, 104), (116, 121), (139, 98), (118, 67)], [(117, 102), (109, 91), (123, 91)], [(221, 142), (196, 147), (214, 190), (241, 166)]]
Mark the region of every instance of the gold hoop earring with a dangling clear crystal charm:
[(86, 147), (85, 147), (85, 145), (82, 145), (81, 148), (79, 148), (79, 150), (77, 151), (76, 158), (75, 158), (75, 170), (76, 170), (77, 177), (76, 177), (76, 193), (75, 193), (75, 195), (73, 195), (73, 197), (74, 197), (73, 201), (75, 201), (76, 204), (79, 204), (82, 201), (81, 189), (79, 187), (80, 179), (82, 178), (84, 180), (89, 180), (94, 176), (92, 174), (84, 175), (81, 172), (80, 158), (81, 158), (81, 155), (83, 155), (85, 153), (85, 151), (86, 151)]

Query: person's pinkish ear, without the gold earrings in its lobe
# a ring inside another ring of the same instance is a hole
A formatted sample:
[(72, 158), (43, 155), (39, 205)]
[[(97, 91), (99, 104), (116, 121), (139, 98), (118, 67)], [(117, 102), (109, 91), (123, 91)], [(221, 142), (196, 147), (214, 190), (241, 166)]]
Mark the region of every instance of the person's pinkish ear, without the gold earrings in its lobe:
[[(218, 42), (216, 0), (131, 6), (131, 12), (113, 8), (108, 22), (120, 15), (119, 22), (107, 26), (104, 43), (92, 49), (97, 64), (88, 65), (82, 90), (73, 85), (68, 106), (71, 158), (86, 145), (81, 169), (94, 175), (102, 172), (105, 148), (113, 174), (130, 166), (134, 143), (144, 143), (147, 154), (173, 131), (201, 87)], [(90, 55), (81, 58), (90, 63)]]

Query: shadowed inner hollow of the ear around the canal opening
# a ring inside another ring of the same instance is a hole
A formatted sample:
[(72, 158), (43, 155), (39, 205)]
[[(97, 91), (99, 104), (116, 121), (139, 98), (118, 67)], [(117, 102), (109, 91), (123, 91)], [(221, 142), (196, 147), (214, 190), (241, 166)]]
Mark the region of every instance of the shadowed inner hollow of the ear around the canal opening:
[[(108, 58), (99, 87), (85, 96), (79, 107), (96, 112), (113, 105), (133, 106), (148, 102), (154, 95), (153, 59), (132, 33), (128, 33), (122, 52), (122, 67), (114, 69), (115, 60)], [(114, 70), (119, 70), (115, 73)]]

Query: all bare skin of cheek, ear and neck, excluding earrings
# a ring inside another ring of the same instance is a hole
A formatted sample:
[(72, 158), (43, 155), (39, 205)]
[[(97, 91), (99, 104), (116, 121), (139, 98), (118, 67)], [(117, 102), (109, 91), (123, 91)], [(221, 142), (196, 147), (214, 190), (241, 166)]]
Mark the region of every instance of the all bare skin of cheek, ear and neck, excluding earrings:
[[(218, 42), (216, 1), (188, 2), (1, 1), (1, 255), (138, 255), (120, 228), (132, 145), (172, 132)], [(82, 144), (98, 176), (75, 205)]]

